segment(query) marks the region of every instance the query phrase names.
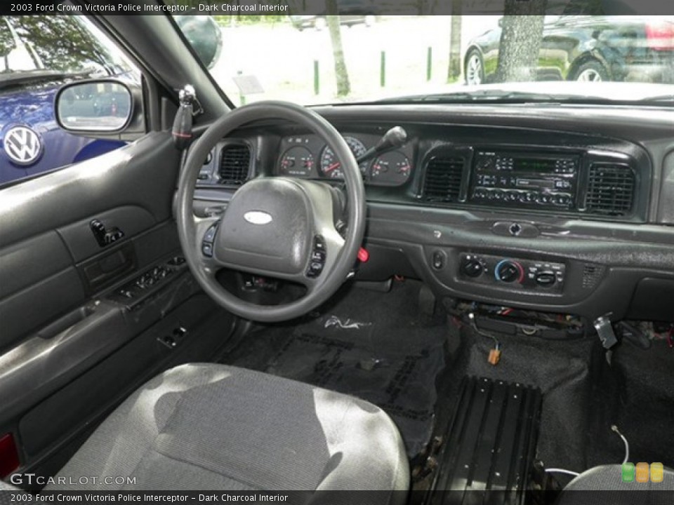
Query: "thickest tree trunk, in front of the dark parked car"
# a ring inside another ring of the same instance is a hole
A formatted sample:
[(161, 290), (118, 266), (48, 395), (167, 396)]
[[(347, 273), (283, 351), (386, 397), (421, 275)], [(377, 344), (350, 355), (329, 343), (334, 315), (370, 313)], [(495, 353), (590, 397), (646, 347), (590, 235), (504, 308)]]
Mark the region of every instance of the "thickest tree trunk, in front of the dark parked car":
[(496, 82), (536, 80), (547, 0), (505, 0)]

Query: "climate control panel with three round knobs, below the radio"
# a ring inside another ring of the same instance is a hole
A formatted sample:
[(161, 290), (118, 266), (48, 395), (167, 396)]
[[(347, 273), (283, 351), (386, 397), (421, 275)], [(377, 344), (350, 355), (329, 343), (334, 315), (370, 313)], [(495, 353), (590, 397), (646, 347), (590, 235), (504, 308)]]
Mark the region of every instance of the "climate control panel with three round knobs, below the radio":
[(458, 276), (481, 284), (527, 290), (560, 292), (566, 267), (563, 263), (462, 253)]

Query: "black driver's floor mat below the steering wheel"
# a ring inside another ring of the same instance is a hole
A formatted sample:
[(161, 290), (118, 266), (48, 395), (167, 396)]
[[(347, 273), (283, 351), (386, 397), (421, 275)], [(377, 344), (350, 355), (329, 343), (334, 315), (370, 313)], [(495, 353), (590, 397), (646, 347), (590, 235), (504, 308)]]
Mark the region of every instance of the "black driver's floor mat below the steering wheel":
[[(385, 295), (356, 291), (310, 321), (253, 332), (226, 362), (378, 405), (397, 424), (409, 456), (414, 457), (430, 440), (434, 426), (435, 379), (444, 368), (446, 327), (420, 323), (418, 314), (403, 322), (374, 309), (378, 297), (387, 299), (390, 310), (395, 310), (395, 299), (409, 305), (414, 287), (399, 287)], [(343, 315), (367, 295), (369, 317), (362, 311), (358, 315), (366, 317)]]

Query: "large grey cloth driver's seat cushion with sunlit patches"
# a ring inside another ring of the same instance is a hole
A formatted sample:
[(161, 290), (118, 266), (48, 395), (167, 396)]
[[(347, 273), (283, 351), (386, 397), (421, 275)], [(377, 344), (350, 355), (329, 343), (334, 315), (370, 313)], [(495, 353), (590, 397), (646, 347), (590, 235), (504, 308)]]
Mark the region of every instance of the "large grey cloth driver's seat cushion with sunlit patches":
[[(133, 476), (98, 490), (407, 490), (402, 439), (371, 403), (226, 365), (155, 377), (58, 476)], [(79, 486), (81, 490), (81, 486)], [(393, 493), (392, 493), (393, 494)]]

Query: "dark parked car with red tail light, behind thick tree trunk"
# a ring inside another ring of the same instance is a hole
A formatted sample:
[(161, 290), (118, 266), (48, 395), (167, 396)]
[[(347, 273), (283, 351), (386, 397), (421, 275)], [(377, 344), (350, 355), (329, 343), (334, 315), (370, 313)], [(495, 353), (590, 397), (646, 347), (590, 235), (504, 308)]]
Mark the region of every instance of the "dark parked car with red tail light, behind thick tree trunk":
[[(465, 83), (493, 82), (501, 22), (476, 37), (463, 58)], [(674, 82), (673, 16), (546, 16), (539, 81)]]

